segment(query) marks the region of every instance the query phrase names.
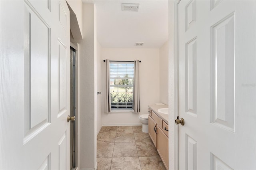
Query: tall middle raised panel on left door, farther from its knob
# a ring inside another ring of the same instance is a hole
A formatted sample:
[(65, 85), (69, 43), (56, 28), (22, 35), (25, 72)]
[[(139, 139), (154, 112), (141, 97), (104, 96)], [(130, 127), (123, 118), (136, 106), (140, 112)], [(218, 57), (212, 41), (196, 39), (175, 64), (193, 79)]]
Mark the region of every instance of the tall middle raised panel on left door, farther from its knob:
[[(50, 125), (50, 26), (24, 1), (24, 140)], [(40, 74), (41, 76), (37, 76)]]

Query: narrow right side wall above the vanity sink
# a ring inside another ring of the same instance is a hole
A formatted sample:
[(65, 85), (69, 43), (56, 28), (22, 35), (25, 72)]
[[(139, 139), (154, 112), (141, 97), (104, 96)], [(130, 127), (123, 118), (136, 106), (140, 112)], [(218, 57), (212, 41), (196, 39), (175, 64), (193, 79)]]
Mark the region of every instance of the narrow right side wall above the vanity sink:
[(160, 102), (168, 105), (168, 41), (159, 49)]

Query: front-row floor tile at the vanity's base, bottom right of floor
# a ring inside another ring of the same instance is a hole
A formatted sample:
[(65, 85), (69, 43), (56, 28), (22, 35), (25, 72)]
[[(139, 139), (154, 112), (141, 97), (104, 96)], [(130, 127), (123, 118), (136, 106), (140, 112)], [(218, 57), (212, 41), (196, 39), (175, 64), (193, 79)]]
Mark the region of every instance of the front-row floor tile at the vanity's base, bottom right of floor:
[(160, 156), (139, 157), (142, 170), (166, 170)]

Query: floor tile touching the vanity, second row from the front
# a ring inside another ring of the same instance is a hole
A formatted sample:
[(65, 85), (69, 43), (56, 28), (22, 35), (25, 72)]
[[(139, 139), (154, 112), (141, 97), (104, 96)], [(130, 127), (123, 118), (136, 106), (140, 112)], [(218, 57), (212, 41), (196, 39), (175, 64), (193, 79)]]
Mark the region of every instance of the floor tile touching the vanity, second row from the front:
[(144, 142), (136, 142), (139, 156), (159, 156), (153, 143), (145, 144)]

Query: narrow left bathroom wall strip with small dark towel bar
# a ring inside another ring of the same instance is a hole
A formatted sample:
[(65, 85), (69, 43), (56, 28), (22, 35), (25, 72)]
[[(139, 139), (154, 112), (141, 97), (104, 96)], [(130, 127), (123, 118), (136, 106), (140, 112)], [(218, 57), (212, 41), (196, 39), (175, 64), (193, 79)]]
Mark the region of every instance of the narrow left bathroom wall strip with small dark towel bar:
[[(97, 42), (97, 92), (102, 92), (101, 45)], [(97, 95), (97, 134), (102, 127), (102, 94)]]

